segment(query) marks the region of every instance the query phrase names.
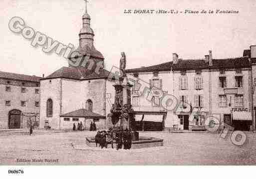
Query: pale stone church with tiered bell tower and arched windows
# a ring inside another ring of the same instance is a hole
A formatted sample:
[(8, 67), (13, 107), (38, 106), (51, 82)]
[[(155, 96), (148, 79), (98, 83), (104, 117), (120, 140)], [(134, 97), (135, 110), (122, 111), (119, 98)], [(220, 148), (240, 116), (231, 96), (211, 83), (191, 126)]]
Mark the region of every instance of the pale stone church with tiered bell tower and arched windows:
[[(93, 44), (87, 9), (82, 17), (77, 54), (69, 58), (69, 67), (62, 67), (40, 80), (40, 128), (72, 129), (82, 122), (85, 130), (95, 122), (98, 129), (107, 124), (106, 117), (114, 101), (113, 81), (109, 71), (90, 65), (70, 65), (80, 57), (104, 65), (104, 57)], [(71, 60), (71, 61), (70, 61)]]

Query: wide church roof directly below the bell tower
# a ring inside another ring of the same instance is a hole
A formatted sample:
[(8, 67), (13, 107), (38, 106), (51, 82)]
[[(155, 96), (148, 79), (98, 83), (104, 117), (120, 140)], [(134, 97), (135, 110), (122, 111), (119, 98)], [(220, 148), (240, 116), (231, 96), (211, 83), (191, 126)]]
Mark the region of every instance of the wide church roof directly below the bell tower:
[(109, 75), (109, 71), (105, 69), (99, 70), (99, 74), (95, 72), (94, 69), (88, 70), (85, 67), (62, 67), (57, 71), (53, 72), (49, 76), (43, 78), (44, 79), (51, 79), (51, 78), (68, 78), (68, 79), (76, 79), (76, 80), (83, 80), (83, 79), (92, 79), (92, 78), (107, 78)]

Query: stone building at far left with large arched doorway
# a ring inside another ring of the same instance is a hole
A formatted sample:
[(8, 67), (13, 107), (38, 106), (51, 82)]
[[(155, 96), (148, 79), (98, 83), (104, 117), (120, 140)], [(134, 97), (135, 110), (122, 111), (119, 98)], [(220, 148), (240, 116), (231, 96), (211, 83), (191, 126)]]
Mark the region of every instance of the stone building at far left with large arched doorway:
[(39, 127), (40, 77), (0, 71), (0, 129)]

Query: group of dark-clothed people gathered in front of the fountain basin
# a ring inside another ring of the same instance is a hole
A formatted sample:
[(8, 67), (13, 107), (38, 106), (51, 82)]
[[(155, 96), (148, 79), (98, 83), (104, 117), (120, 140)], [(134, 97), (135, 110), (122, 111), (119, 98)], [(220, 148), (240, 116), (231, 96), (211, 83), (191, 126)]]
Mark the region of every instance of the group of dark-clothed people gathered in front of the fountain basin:
[(107, 148), (107, 145), (111, 143), (112, 148), (113, 143), (116, 143), (116, 150), (122, 149), (131, 149), (132, 147), (132, 133), (128, 129), (110, 129), (109, 131), (98, 131), (95, 136), (96, 147), (99, 144), (101, 149), (104, 147)]

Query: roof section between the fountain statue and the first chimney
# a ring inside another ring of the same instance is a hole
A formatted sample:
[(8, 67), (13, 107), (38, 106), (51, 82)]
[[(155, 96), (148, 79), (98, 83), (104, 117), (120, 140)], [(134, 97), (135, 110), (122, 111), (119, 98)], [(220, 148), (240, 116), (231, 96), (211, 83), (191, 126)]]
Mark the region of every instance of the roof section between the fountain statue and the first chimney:
[(153, 65), (153, 66), (148, 66), (148, 67), (141, 67), (141, 68), (133, 68), (133, 69), (127, 69), (125, 70), (126, 73), (136, 73), (136, 72), (152, 72), (152, 71), (170, 71), (171, 66), (173, 62), (166, 62), (166, 63), (161, 63), (159, 65)]

